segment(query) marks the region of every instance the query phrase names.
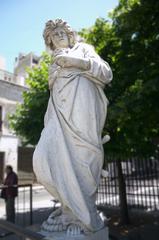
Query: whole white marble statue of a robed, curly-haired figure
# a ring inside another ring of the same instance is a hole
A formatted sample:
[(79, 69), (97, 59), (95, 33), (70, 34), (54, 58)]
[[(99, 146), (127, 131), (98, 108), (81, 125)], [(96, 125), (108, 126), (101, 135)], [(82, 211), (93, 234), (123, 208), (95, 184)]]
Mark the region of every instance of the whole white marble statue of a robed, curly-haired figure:
[(112, 71), (91, 45), (77, 40), (65, 21), (48, 21), (43, 36), (53, 63), (50, 99), (33, 167), (37, 180), (61, 207), (42, 228), (67, 236), (88, 236), (104, 228), (95, 198), (103, 141), (107, 141), (107, 137), (101, 138), (108, 103), (103, 89), (112, 80)]

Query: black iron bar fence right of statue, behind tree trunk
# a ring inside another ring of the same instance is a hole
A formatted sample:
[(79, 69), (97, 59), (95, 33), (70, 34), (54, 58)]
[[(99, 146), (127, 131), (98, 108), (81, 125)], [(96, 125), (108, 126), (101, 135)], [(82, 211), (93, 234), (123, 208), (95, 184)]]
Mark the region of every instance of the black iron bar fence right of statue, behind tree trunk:
[[(97, 192), (97, 204), (119, 206), (117, 160), (108, 158), (105, 177)], [(159, 210), (159, 159), (131, 158), (121, 161), (129, 208)]]

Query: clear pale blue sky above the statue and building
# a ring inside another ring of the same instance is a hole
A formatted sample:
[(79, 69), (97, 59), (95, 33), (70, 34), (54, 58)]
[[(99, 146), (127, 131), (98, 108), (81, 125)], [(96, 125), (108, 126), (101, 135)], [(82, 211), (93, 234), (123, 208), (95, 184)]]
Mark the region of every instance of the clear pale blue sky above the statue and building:
[(6, 70), (13, 72), (19, 52), (45, 50), (42, 32), (49, 19), (63, 18), (72, 28), (91, 27), (97, 17), (107, 14), (118, 0), (0, 0), (0, 56)]

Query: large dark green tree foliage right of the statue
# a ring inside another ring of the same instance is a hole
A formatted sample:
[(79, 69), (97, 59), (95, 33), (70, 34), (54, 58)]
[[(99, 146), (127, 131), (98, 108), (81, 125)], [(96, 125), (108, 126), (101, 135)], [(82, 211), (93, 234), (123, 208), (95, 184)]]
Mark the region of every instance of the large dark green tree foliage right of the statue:
[(82, 33), (114, 73), (106, 89), (110, 100), (106, 130), (111, 136), (106, 148), (154, 154), (159, 144), (159, 2), (120, 0), (110, 16), (112, 23), (98, 19)]

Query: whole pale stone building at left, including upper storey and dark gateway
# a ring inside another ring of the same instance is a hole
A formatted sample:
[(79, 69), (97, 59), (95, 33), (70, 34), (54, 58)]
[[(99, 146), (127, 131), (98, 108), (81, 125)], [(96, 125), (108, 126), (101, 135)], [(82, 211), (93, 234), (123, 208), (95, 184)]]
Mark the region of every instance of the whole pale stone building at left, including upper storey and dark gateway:
[(8, 115), (15, 112), (17, 104), (23, 101), (22, 93), (29, 90), (25, 82), (26, 67), (32, 68), (39, 60), (33, 53), (19, 54), (14, 74), (0, 69), (0, 183), (7, 164), (12, 165), (15, 172), (22, 172), (23, 177), (25, 170), (28, 175), (32, 169), (33, 148), (21, 146), (20, 139), (9, 127)]

